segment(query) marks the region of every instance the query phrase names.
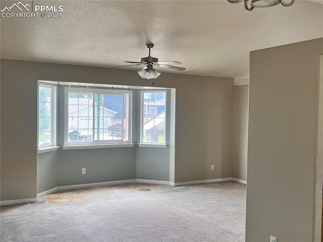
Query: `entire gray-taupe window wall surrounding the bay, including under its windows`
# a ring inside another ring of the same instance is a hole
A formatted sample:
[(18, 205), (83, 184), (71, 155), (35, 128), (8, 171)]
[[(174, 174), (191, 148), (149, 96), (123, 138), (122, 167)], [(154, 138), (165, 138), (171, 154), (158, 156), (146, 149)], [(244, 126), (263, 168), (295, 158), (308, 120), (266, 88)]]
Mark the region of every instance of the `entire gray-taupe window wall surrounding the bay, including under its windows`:
[[(163, 73), (152, 85), (129, 70), (14, 60), (1, 60), (1, 67), (1, 201), (37, 196), (37, 80), (176, 88), (174, 181), (231, 176), (233, 78)], [(58, 134), (59, 140), (62, 135)], [(136, 178), (136, 147), (61, 147), (56, 153), (38, 157), (38, 192), (56, 182), (73, 185)], [(138, 178), (153, 179), (149, 175), (152, 172), (156, 179), (164, 179), (162, 173), (170, 169), (170, 164), (163, 171), (150, 165), (140, 164), (146, 170)], [(52, 175), (47, 180), (45, 174), (55, 167), (57, 177)], [(83, 167), (88, 176), (80, 174)]]

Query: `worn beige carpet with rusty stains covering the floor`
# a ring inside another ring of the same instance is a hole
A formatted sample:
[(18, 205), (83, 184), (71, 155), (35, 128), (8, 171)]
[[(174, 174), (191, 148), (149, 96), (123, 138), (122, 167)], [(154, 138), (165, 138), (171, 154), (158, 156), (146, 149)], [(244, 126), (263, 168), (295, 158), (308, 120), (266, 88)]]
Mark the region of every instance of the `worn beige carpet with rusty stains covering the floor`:
[(244, 241), (245, 186), (124, 184), (1, 207), (3, 242)]

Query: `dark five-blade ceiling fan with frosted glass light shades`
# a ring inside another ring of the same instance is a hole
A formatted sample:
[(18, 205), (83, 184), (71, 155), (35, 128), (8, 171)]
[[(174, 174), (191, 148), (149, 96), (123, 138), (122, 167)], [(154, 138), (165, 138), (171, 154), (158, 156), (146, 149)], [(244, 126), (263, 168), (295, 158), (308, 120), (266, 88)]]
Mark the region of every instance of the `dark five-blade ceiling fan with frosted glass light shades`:
[[(153, 69), (153, 65), (157, 67), (163, 67), (163, 68), (169, 68), (177, 71), (184, 71), (186, 68), (178, 67), (178, 66), (171, 66), (171, 65), (181, 65), (182, 63), (178, 61), (158, 61), (158, 58), (154, 58), (150, 56), (150, 50), (153, 47), (153, 43), (146, 44), (146, 47), (149, 50), (149, 55), (147, 57), (141, 58), (141, 62), (134, 62), (134, 61), (125, 61), (127, 63), (132, 63), (133, 65), (126, 65), (126, 66), (142, 66), (145, 65), (145, 67), (138, 71), (138, 74), (144, 78), (144, 79), (156, 79), (160, 72), (157, 72)], [(124, 67), (124, 66), (113, 66), (110, 68), (116, 68), (116, 67)]]

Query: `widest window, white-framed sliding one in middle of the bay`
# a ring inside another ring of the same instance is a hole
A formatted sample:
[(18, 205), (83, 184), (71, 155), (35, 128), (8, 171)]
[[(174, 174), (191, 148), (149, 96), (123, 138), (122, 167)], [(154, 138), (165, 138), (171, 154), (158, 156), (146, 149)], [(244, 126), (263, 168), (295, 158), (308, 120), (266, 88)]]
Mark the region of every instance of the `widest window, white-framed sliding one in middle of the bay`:
[(131, 91), (66, 88), (65, 145), (131, 143)]

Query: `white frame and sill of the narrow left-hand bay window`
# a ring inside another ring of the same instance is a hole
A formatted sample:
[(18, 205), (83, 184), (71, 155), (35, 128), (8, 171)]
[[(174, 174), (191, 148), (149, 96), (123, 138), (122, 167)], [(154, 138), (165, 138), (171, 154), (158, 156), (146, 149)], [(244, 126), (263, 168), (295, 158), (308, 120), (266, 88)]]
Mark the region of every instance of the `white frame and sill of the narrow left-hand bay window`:
[[(39, 148), (39, 87), (50, 88), (50, 146)], [(50, 151), (56, 151), (59, 147), (56, 146), (56, 133), (57, 133), (57, 87), (54, 85), (48, 85), (47, 83), (42, 83), (38, 81), (38, 91), (37, 91), (37, 148), (38, 153), (45, 153)]]

